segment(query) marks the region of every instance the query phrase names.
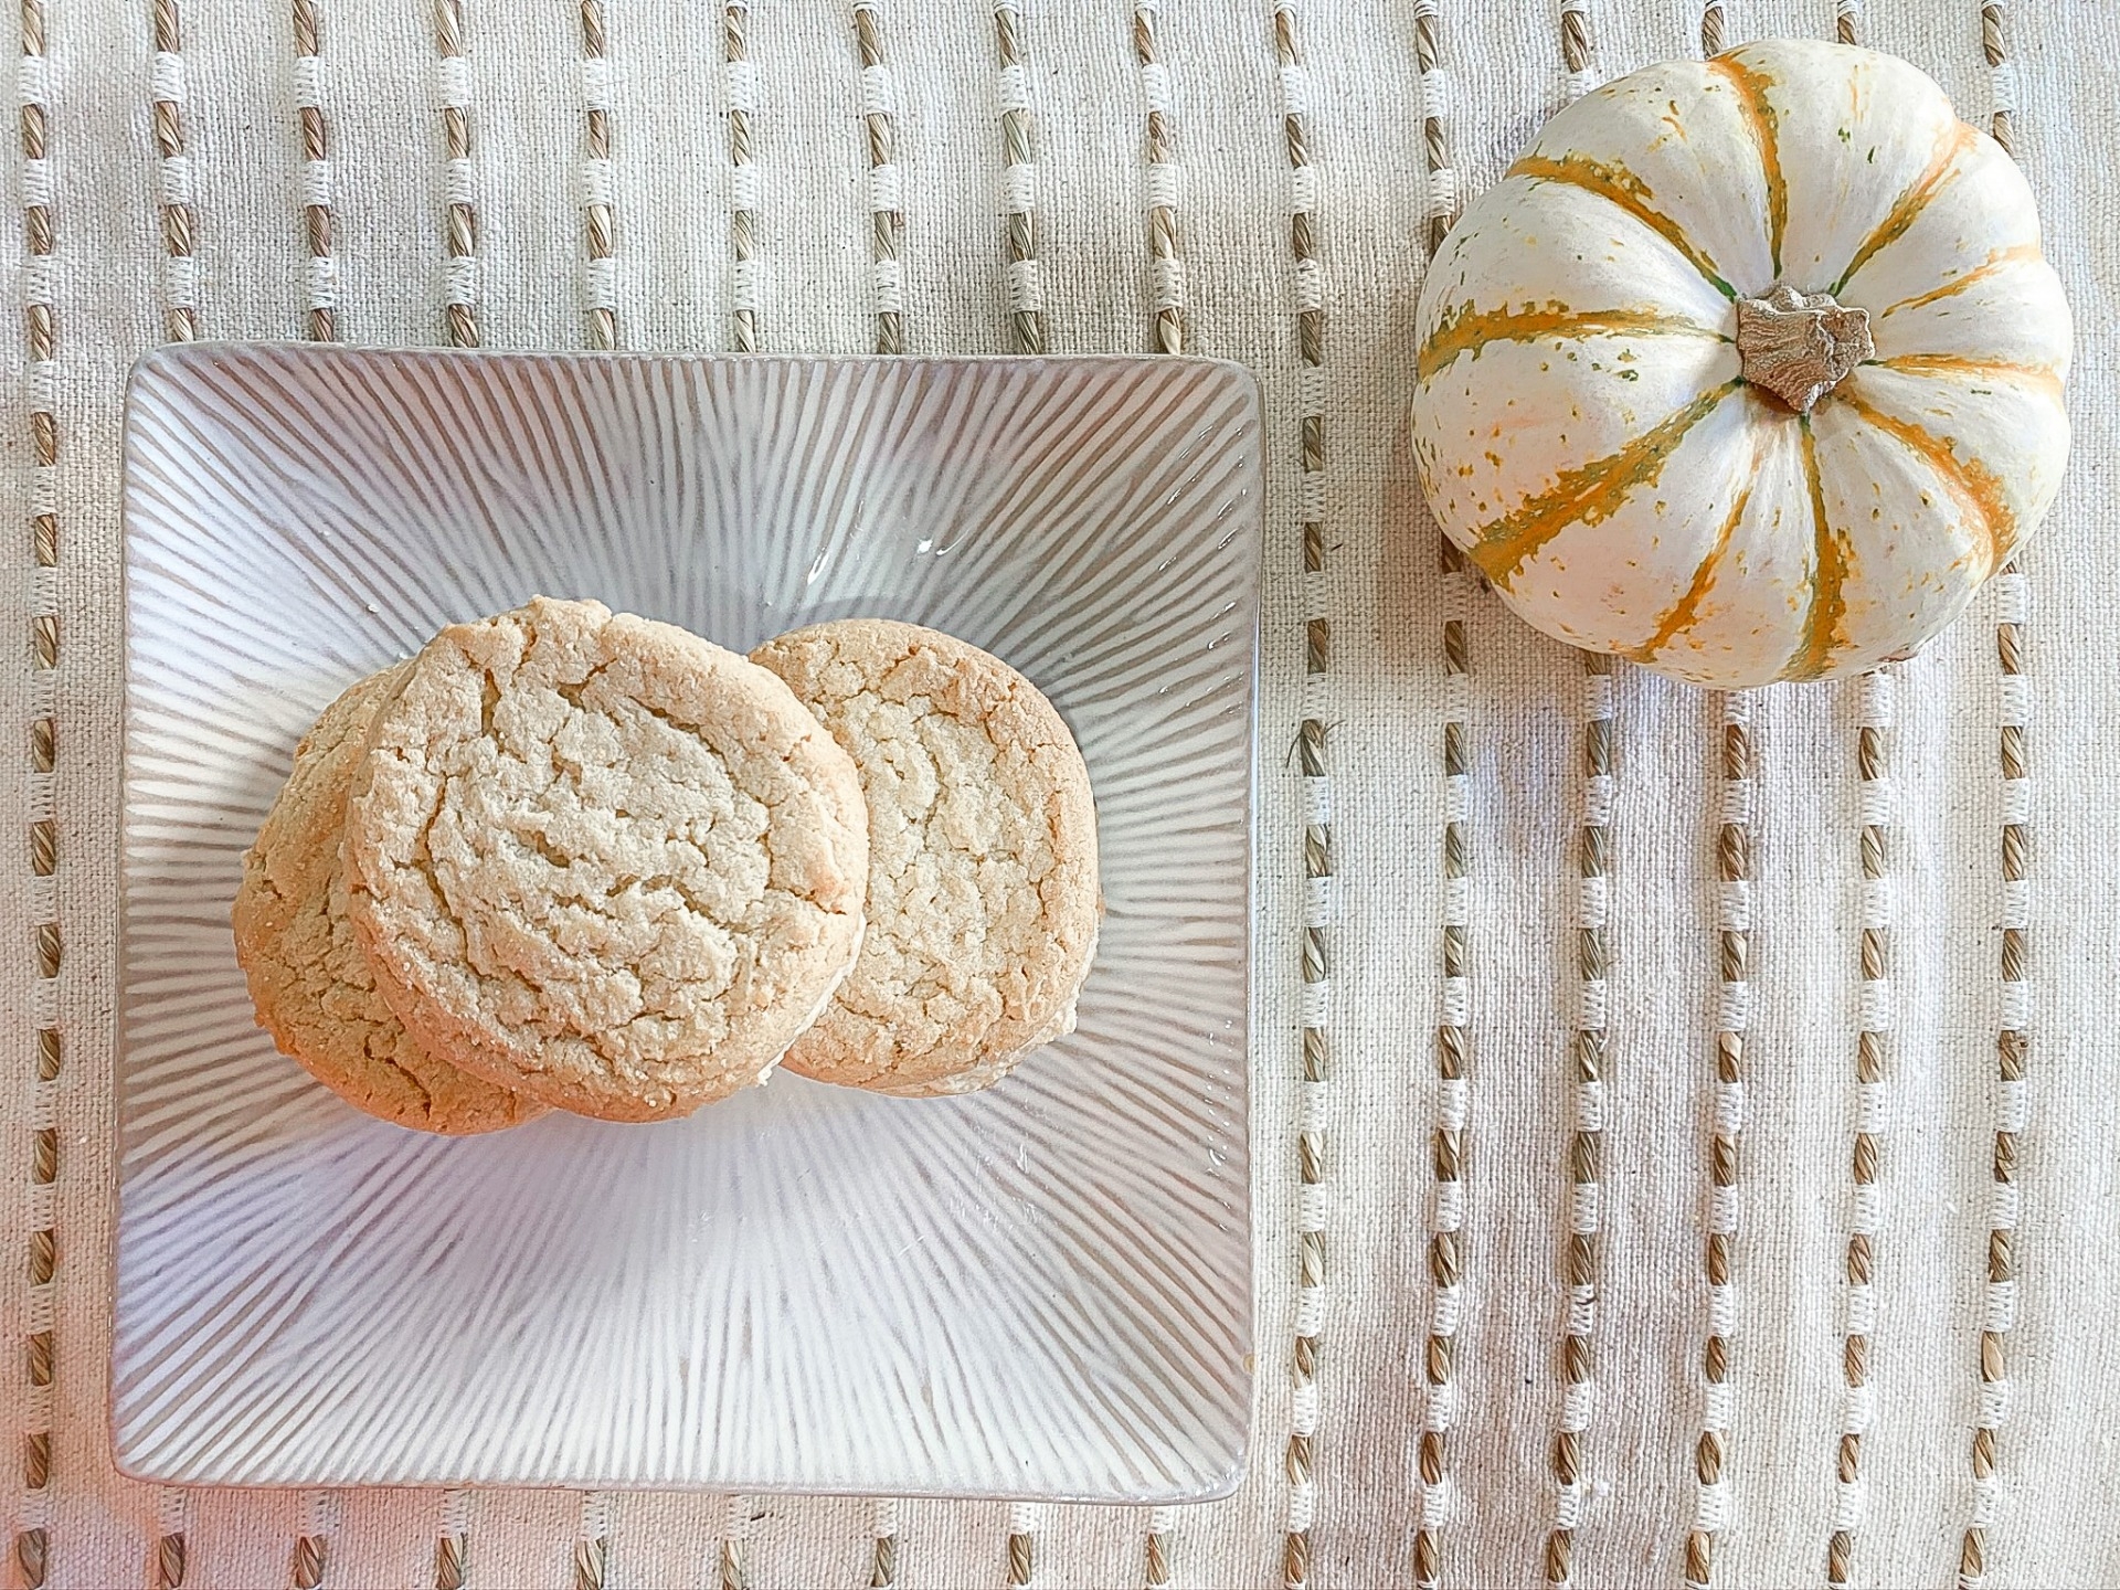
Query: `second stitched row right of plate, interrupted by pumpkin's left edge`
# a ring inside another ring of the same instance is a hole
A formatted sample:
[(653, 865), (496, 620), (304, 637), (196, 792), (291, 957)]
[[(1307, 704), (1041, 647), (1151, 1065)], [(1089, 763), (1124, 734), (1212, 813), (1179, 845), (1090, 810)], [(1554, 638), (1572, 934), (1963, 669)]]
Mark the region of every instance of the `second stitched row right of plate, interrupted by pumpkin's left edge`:
[[(1456, 218), (1456, 172), (1444, 138), (1448, 83), (1437, 38), (1435, 0), (1414, 0), (1414, 57), (1420, 68), (1423, 144), (1429, 172), (1427, 244), (1433, 257)], [(1471, 719), (1471, 617), (1473, 577), (1465, 555), (1437, 532), (1444, 585), (1444, 912), (1442, 912), (1442, 1009), (1435, 1024), (1435, 1138), (1429, 1215), (1429, 1283), (1435, 1300), (1429, 1317), (1423, 1378), (1427, 1406), (1416, 1446), (1418, 1501), (1414, 1522), (1414, 1584), (1442, 1584), (1442, 1526), (1450, 1503), (1450, 1431), (1456, 1423), (1459, 1323), (1465, 1308), (1461, 1289), (1465, 1230), (1465, 1064), (1471, 1047), (1471, 986), (1467, 935), (1471, 929), (1469, 842), (1467, 842), (1467, 744)]]

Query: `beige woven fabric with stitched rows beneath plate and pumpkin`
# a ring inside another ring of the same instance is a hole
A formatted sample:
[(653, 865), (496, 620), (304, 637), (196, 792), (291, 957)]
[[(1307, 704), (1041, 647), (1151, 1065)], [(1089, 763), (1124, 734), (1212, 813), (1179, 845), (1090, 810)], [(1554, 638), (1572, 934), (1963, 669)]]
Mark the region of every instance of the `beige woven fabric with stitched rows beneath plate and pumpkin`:
[[(577, 0), (443, 0), (439, 21), (428, 0), (30, 0), (0, 218), (17, 1579), (1397, 1586), (1433, 1562), (1452, 1586), (1677, 1586), (1713, 1545), (1717, 1586), (1948, 1586), (1978, 1526), (1963, 1560), (1991, 1584), (2120, 1584), (2120, 13), (1989, 13), (1984, 40), (1980, 0), (606, 0), (587, 30)], [(1704, 28), (1842, 28), (1980, 125), (2008, 108), (2082, 329), (2078, 456), (2025, 577), (1883, 685), (1734, 708), (1632, 668), (1586, 683), (1439, 570), (1399, 443), (1431, 216), (1567, 93), (1696, 53)], [(172, 333), (452, 329), (1183, 346), (1259, 371), (1259, 1414), (1238, 1497), (178, 1497), (112, 1473), (123, 373)], [(1577, 1028), (1605, 1035), (1594, 1088)], [(1743, 1100), (1717, 1083), (1738, 1030)]]

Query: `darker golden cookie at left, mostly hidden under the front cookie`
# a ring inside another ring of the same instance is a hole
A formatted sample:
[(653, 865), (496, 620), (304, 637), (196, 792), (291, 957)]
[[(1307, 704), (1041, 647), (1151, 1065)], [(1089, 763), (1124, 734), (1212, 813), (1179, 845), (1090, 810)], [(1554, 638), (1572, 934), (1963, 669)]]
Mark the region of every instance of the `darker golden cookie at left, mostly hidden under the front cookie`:
[(420, 1132), (496, 1132), (545, 1107), (428, 1054), (375, 992), (346, 920), (346, 793), (375, 710), (409, 668), (363, 678), (295, 748), (295, 772), (244, 852), (235, 958), (259, 1026), (339, 1098)]

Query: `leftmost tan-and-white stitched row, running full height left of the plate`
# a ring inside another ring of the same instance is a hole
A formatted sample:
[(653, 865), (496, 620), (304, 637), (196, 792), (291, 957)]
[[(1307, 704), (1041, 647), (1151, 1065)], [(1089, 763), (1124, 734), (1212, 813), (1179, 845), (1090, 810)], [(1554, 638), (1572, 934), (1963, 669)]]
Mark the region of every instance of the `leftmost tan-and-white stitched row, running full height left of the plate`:
[(51, 1560), (51, 1403), (53, 1323), (59, 1268), (57, 1181), (59, 1181), (59, 825), (57, 825), (57, 666), (59, 666), (59, 420), (57, 420), (57, 326), (53, 318), (53, 184), (49, 165), (49, 119), (45, 83), (42, 0), (21, 4), (21, 216), (23, 326), (28, 365), (23, 401), (30, 409), (30, 1020), (36, 1032), (36, 1073), (30, 1105), (30, 1297), (25, 1308), (28, 1397), (23, 1410), (23, 1497), (17, 1514), (13, 1556), (15, 1577), (25, 1590), (45, 1584)]

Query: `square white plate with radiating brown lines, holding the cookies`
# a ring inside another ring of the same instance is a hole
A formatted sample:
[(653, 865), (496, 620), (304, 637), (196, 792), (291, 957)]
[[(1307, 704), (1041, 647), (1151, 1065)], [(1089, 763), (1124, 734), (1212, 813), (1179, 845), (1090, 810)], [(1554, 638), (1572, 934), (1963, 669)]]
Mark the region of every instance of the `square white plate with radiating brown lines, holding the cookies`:
[[(1189, 1501), (1251, 1420), (1259, 401), (1174, 358), (197, 346), (125, 411), (112, 1431), (178, 1484)], [(933, 623), (1098, 799), (1081, 1030), (988, 1094), (776, 1077), (443, 1141), (252, 1026), (237, 859), (295, 740), (452, 619), (748, 649)]]

